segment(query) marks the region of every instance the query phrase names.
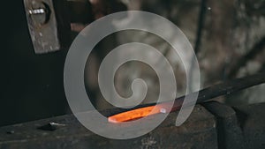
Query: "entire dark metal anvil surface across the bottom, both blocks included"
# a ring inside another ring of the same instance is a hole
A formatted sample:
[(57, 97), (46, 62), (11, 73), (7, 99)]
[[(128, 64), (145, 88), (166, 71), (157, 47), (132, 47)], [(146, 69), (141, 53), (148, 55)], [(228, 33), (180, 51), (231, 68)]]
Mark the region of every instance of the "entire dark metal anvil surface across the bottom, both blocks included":
[[(127, 140), (102, 138), (84, 128), (73, 115), (63, 115), (0, 128), (0, 148), (261, 149), (265, 145), (264, 108), (265, 103), (231, 108), (208, 102), (195, 106), (180, 127), (175, 126), (178, 112), (174, 112), (147, 135)], [(110, 111), (102, 113), (110, 115)], [(39, 129), (50, 123), (57, 127)]]

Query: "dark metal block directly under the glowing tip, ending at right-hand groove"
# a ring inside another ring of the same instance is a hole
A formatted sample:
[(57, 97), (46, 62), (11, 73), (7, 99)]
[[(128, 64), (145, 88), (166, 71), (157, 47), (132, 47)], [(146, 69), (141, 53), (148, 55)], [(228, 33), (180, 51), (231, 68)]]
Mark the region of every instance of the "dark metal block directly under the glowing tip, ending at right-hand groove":
[[(217, 148), (215, 117), (205, 108), (196, 106), (180, 127), (175, 126), (177, 115), (171, 113), (155, 130), (128, 140), (102, 138), (84, 128), (73, 115), (63, 115), (0, 128), (0, 148)], [(53, 131), (38, 129), (50, 122), (64, 126)]]

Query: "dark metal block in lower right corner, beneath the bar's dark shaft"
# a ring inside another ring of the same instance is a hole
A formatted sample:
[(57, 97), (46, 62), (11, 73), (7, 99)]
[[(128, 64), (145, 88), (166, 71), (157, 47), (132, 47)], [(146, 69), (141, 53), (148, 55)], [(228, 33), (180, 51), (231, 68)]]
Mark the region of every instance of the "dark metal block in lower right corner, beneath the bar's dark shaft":
[(265, 148), (265, 103), (231, 108), (218, 102), (208, 102), (203, 106), (216, 116), (219, 148)]

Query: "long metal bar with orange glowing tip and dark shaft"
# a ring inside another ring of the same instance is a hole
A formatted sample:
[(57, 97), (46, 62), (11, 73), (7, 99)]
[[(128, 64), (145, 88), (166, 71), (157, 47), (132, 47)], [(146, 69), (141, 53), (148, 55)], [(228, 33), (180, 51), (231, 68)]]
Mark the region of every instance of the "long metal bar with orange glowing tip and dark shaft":
[[(214, 86), (209, 86), (208, 88), (199, 91), (197, 103), (208, 101), (210, 99), (213, 99), (221, 95), (231, 94), (251, 86), (260, 85), (262, 83), (265, 83), (265, 72), (255, 74), (252, 76), (247, 76), (245, 78), (236, 78), (228, 82), (223, 82)], [(193, 96), (193, 94), (195, 93), (190, 93), (186, 96)], [(108, 118), (108, 121), (110, 123), (122, 123), (122, 122), (133, 121), (148, 115), (155, 115), (159, 113), (176, 111), (180, 109), (182, 106), (184, 107), (190, 106), (189, 103), (186, 105), (182, 105), (184, 99), (185, 96), (177, 98), (174, 101), (173, 107), (170, 109), (168, 108), (168, 105), (172, 101), (170, 102), (167, 101), (163, 103), (158, 103), (156, 107), (155, 104), (152, 106), (148, 105), (143, 108), (136, 108), (123, 113), (119, 113), (117, 115), (112, 115)]]

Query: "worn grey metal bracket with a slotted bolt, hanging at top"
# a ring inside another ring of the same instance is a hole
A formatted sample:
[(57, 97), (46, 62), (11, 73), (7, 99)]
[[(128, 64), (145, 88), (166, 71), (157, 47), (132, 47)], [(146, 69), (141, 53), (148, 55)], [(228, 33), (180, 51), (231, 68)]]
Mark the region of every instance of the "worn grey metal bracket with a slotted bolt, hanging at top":
[(27, 24), (36, 54), (67, 48), (70, 44), (70, 21), (64, 1), (24, 0)]

